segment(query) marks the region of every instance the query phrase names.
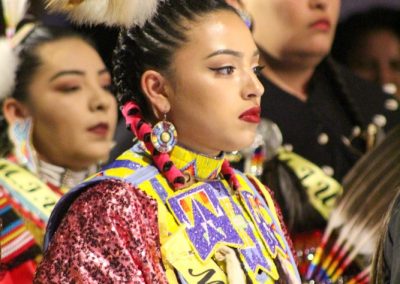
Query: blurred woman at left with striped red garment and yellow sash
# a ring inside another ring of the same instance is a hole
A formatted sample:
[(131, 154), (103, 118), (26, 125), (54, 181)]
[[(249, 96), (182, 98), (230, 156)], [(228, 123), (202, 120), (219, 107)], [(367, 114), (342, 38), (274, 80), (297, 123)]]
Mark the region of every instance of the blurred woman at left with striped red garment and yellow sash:
[(110, 74), (89, 40), (20, 26), (0, 45), (1, 283), (32, 283), (53, 207), (107, 161), (117, 118)]

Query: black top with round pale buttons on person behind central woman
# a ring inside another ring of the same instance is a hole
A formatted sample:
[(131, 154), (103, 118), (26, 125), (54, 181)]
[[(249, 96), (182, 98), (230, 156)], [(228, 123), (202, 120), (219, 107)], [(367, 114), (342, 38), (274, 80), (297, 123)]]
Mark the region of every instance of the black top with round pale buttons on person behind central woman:
[(387, 131), (400, 122), (392, 96), (330, 59), (322, 61), (307, 82), (305, 101), (267, 77), (261, 81), (267, 90), (263, 115), (279, 126), (284, 143), (338, 181), (366, 152), (369, 124)]

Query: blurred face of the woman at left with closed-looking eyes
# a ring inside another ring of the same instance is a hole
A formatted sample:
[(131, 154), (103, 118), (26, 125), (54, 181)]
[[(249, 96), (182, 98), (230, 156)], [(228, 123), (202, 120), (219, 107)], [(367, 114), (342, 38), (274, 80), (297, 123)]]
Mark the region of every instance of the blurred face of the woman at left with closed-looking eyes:
[(106, 161), (117, 107), (98, 53), (70, 38), (47, 43), (38, 54), (42, 64), (29, 86), (27, 107), (39, 157), (71, 169)]

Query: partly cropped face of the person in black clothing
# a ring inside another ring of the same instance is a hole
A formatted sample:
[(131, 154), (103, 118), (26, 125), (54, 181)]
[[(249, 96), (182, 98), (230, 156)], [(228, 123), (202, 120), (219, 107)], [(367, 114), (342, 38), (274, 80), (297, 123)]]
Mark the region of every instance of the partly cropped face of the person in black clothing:
[(325, 56), (331, 48), (340, 0), (243, 0), (254, 38), (278, 60)]

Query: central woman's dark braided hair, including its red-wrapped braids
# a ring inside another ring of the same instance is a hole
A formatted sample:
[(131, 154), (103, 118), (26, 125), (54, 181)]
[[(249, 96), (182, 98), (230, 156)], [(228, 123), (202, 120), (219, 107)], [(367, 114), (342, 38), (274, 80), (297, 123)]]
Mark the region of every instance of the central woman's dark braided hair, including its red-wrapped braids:
[[(142, 92), (140, 79), (149, 68), (168, 74), (174, 52), (187, 41), (188, 28), (185, 23), (218, 10), (236, 13), (223, 0), (165, 1), (159, 6), (158, 14), (142, 28), (122, 30), (114, 52), (114, 84), (127, 127), (144, 143), (156, 167), (176, 189), (184, 186), (185, 178), (169, 155), (158, 152), (150, 141), (152, 129), (147, 121), (152, 121), (153, 116)], [(228, 161), (224, 161), (221, 173), (234, 189), (239, 187)]]

